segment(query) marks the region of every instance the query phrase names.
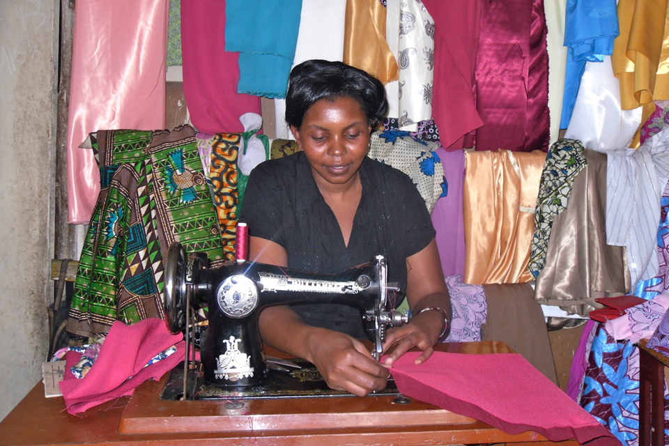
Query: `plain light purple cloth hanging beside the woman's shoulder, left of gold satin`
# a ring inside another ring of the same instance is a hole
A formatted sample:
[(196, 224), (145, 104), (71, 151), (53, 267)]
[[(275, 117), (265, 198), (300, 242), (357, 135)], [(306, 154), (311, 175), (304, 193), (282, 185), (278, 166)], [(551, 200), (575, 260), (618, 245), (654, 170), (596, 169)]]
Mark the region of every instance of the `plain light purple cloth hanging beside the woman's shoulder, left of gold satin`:
[(436, 150), (444, 167), (447, 194), (432, 210), (432, 224), (444, 277), (465, 274), (465, 224), (462, 215), (465, 152)]

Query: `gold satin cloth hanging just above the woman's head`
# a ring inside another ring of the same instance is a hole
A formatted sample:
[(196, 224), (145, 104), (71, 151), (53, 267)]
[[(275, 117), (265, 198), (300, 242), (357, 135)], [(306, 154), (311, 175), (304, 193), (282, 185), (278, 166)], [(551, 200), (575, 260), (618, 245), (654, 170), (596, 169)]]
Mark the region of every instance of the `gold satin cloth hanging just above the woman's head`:
[(343, 60), (383, 84), (397, 80), (399, 68), (385, 40), (385, 7), (380, 1), (346, 1)]

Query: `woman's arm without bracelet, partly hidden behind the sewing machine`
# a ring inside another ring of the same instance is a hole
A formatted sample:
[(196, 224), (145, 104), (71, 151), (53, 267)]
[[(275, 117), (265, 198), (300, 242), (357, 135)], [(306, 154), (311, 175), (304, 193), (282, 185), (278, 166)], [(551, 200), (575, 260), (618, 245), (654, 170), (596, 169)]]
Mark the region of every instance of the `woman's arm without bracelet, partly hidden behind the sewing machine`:
[[(288, 265), (286, 249), (263, 238), (250, 238), (249, 254), (252, 261)], [(266, 344), (312, 362), (334, 390), (364, 397), (386, 385), (387, 369), (364, 344), (347, 334), (305, 324), (287, 305), (264, 309), (259, 326)]]

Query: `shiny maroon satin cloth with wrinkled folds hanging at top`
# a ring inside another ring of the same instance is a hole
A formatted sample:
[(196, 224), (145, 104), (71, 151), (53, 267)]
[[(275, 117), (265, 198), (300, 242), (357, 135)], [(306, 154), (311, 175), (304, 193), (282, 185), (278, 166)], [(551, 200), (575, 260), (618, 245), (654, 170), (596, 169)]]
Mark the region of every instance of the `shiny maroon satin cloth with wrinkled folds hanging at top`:
[(475, 79), (477, 151), (548, 151), (544, 0), (482, 1)]

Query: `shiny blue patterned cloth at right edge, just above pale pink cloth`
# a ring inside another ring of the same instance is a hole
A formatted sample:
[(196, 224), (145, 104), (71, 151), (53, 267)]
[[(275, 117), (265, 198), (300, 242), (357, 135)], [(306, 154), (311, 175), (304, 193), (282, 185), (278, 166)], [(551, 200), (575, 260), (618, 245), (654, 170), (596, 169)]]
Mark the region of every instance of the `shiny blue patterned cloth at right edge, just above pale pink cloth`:
[(641, 280), (633, 290), (633, 295), (644, 299), (652, 299), (658, 294), (669, 291), (669, 183), (662, 193), (660, 206), (656, 249), (658, 272), (652, 279)]

